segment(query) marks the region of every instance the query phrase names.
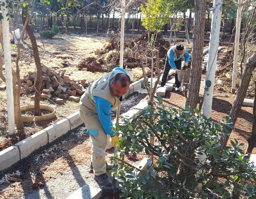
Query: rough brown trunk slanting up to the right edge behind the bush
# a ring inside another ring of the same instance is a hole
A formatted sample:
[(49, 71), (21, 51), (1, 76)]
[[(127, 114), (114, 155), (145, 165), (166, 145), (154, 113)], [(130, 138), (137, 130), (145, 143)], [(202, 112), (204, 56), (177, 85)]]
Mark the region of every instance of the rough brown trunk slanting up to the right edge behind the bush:
[[(235, 125), (237, 121), (238, 114), (241, 110), (243, 100), (245, 99), (245, 95), (249, 86), (249, 83), (251, 81), (251, 76), (256, 67), (256, 53), (254, 53), (245, 63), (245, 70), (241, 77), (241, 83), (237, 91), (237, 95), (235, 97), (235, 101), (233, 103), (233, 106), (230, 110), (229, 116), (230, 121), (233, 122)], [(230, 129), (230, 134), (232, 132), (232, 129)], [(225, 135), (224, 139), (220, 139), (221, 146), (220, 149), (222, 150), (225, 146), (227, 146), (228, 138), (230, 135)]]

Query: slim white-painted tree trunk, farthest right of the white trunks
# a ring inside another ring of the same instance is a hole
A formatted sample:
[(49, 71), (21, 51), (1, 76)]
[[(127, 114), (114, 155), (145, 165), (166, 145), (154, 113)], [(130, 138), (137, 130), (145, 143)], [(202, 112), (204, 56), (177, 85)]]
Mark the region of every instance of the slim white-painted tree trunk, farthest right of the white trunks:
[(237, 60), (238, 60), (238, 50), (239, 50), (239, 38), (240, 38), (240, 27), (241, 27), (241, 18), (242, 18), (242, 0), (238, 0), (238, 9), (237, 9), (237, 24), (236, 24), (236, 34), (235, 34), (235, 52), (234, 52), (234, 61), (233, 61), (233, 75), (232, 75), (232, 87), (231, 92), (235, 93), (235, 86), (237, 80)]

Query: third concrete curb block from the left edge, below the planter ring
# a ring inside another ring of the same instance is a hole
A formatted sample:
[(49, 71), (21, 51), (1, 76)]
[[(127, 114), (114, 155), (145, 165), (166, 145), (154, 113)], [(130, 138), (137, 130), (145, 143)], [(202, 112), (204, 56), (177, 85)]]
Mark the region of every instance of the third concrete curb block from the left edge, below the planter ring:
[(70, 130), (70, 123), (68, 119), (63, 119), (45, 128), (44, 130), (48, 134), (49, 143), (50, 143), (55, 139), (59, 138), (60, 136), (62, 136), (63, 134), (68, 133), (68, 131)]

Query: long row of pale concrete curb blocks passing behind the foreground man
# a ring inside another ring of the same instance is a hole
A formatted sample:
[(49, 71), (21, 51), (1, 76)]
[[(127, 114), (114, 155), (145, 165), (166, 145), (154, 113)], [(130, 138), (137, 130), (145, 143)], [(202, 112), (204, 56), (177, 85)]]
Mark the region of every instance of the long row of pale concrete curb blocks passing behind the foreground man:
[[(132, 83), (125, 97), (139, 90), (142, 86), (144, 86), (143, 84), (144, 78), (141, 78), (138, 81)], [(133, 116), (134, 114), (136, 114), (136, 112), (132, 113)], [(68, 131), (78, 127), (82, 123), (83, 121), (79, 116), (79, 111), (77, 111), (72, 115), (66, 117), (65, 119), (60, 120), (57, 123), (50, 125), (49, 127), (41, 131), (38, 131), (32, 136), (29, 136), (28, 138), (18, 142), (17, 144), (14, 144), (13, 146), (10, 146), (0, 151), (0, 171), (5, 170), (19, 160), (27, 157), (40, 147), (45, 146), (46, 144), (54, 141), (55, 139), (58, 139), (59, 137), (68, 133)]]

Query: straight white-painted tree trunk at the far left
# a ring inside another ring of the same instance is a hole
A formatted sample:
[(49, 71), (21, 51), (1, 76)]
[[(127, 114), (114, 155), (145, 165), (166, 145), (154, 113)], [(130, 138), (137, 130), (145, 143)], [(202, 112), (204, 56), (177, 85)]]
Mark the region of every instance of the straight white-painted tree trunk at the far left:
[[(6, 4), (6, 1), (3, 0)], [(9, 21), (6, 14), (8, 13), (7, 8), (1, 6), (3, 15), (2, 27), (3, 27), (3, 49), (4, 60), (5, 60), (5, 75), (6, 75), (6, 95), (7, 95), (7, 112), (8, 112), (8, 131), (9, 135), (15, 132), (15, 120), (14, 120), (14, 99), (13, 99), (13, 76), (11, 72), (11, 45), (10, 45), (10, 32), (9, 32)]]

